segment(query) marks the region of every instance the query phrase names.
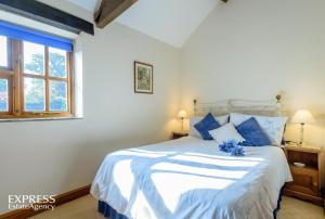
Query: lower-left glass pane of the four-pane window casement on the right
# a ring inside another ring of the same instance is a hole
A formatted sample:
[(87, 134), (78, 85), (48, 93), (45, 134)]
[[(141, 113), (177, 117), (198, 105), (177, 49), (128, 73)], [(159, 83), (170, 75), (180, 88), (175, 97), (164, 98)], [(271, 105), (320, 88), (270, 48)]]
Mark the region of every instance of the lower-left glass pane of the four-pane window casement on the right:
[(25, 111), (46, 111), (46, 82), (43, 79), (24, 78)]

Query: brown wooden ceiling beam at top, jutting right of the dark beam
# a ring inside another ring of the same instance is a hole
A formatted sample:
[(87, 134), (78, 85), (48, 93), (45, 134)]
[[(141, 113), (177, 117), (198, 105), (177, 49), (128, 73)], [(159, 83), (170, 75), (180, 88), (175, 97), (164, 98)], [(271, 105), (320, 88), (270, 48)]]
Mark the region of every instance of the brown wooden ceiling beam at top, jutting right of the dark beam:
[(104, 28), (136, 1), (138, 0), (102, 0), (99, 11), (94, 14), (96, 26)]

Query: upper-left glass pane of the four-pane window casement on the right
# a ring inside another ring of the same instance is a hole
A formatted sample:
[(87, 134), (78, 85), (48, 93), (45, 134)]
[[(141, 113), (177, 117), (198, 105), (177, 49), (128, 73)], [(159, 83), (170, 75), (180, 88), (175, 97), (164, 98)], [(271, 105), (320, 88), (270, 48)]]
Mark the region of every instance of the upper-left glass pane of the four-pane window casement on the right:
[(44, 75), (44, 46), (24, 41), (24, 73)]

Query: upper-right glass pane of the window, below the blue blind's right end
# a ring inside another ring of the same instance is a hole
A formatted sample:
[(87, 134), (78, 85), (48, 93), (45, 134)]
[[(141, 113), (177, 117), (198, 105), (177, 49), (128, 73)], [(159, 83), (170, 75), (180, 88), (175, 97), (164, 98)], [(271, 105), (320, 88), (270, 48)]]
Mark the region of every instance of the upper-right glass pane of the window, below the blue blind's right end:
[(49, 48), (50, 76), (66, 78), (66, 51)]

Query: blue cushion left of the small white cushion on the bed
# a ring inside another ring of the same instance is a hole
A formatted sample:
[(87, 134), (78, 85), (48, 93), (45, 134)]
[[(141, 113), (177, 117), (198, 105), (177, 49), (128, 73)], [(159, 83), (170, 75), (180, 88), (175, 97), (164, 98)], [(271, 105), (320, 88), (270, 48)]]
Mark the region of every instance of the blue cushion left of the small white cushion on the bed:
[(194, 125), (194, 128), (199, 132), (204, 140), (213, 140), (209, 131), (218, 129), (220, 124), (214, 119), (212, 114), (206, 115), (199, 123)]

